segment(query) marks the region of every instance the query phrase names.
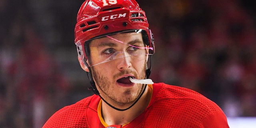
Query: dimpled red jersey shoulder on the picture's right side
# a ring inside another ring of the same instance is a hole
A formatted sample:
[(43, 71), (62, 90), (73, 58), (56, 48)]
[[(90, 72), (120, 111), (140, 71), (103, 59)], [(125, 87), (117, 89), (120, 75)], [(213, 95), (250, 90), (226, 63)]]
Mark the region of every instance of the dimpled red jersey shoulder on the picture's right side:
[[(203, 125), (207, 128), (219, 128), (216, 125), (221, 122), (220, 126), (227, 128), (226, 116), (221, 108), (202, 94), (188, 88), (164, 83), (153, 84), (151, 100), (145, 126), (200, 128), (199, 126)], [(153, 120), (161, 122), (159, 124)], [(215, 125), (211, 127), (205, 124)]]

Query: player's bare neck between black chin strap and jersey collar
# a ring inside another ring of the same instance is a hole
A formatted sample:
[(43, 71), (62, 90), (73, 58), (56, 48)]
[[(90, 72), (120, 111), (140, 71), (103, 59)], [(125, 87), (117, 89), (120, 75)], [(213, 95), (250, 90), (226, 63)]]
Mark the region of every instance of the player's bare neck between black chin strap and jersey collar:
[(151, 88), (146, 87), (146, 90), (142, 97), (138, 100), (138, 102), (132, 106), (132, 108), (125, 111), (118, 111), (110, 106), (108, 106), (105, 102), (102, 102), (102, 118), (108, 125), (124, 125), (128, 124), (134, 118), (139, 116), (144, 110), (147, 108), (150, 99), (151, 99)]

